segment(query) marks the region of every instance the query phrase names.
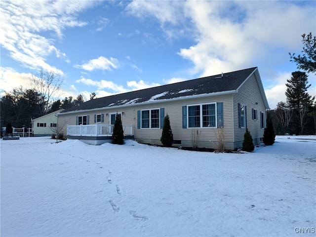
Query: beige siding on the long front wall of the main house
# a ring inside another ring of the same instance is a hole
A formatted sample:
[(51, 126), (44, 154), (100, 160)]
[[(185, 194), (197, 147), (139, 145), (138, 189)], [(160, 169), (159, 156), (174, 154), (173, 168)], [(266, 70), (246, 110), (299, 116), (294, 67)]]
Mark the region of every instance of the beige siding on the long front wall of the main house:
[[(162, 127), (160, 128), (137, 128), (137, 111), (150, 110), (150, 109), (164, 109), (164, 116), (167, 114), (170, 118), (170, 125), (173, 133), (174, 140), (192, 140), (192, 131), (199, 131), (199, 140), (204, 141), (204, 145), (215, 142), (218, 136), (217, 128), (183, 128), (182, 127), (182, 107), (193, 104), (205, 104), (205, 103), (223, 103), (223, 121), (224, 121), (224, 131), (225, 131), (225, 141), (233, 143), (233, 110), (232, 110), (232, 94), (226, 95), (216, 95), (200, 98), (190, 98), (183, 100), (167, 100), (164, 102), (148, 103), (140, 105), (130, 105), (128, 107), (120, 107), (114, 109), (104, 109), (104, 110), (91, 110), (83, 111), (78, 113), (70, 114), (60, 114), (59, 121), (67, 121), (69, 125), (76, 125), (76, 117), (82, 115), (89, 115), (89, 124), (94, 124), (95, 114), (104, 114), (104, 124), (109, 124), (109, 115), (116, 112), (124, 112), (122, 114), (122, 124), (123, 125), (133, 125), (134, 137), (137, 140), (150, 143), (160, 144), (160, 137), (162, 132)], [(106, 116), (108, 114), (108, 116)], [(66, 130), (66, 128), (65, 128)], [(65, 131), (66, 134), (66, 131)]]

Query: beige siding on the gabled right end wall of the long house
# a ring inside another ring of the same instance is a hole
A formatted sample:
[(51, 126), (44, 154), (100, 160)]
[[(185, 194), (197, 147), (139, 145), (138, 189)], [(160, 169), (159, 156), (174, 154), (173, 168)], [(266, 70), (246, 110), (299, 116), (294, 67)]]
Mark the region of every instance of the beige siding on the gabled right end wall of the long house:
[[(260, 112), (266, 115), (266, 108), (255, 74), (252, 74), (239, 88), (238, 93), (234, 94), (234, 113), (237, 115), (234, 118), (235, 142), (241, 144), (246, 128), (239, 128), (238, 103), (246, 106), (247, 128), (252, 138), (259, 141), (264, 133), (264, 129), (260, 126)], [(257, 120), (252, 119), (252, 109), (257, 110)]]

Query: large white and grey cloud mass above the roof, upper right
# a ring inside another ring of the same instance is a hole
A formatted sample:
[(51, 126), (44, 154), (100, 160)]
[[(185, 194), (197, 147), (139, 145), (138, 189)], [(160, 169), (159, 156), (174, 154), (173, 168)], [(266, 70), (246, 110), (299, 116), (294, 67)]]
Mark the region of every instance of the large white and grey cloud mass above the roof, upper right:
[(178, 54), (192, 61), (200, 76), (289, 61), (289, 51), (301, 51), (301, 35), (316, 29), (311, 2), (133, 1), (126, 10), (156, 18), (167, 38), (176, 37), (179, 28), (190, 34), (196, 43)]

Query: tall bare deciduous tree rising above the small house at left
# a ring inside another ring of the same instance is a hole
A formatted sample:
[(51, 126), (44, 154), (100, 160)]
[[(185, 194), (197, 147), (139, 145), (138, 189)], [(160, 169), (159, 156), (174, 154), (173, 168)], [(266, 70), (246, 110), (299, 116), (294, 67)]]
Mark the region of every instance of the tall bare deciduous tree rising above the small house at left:
[(53, 103), (53, 98), (59, 97), (56, 94), (62, 83), (63, 80), (60, 78), (60, 75), (53, 71), (40, 70), (38, 74), (32, 74), (31, 85), (40, 93), (43, 103), (43, 109), (40, 109), (41, 116), (47, 114)]

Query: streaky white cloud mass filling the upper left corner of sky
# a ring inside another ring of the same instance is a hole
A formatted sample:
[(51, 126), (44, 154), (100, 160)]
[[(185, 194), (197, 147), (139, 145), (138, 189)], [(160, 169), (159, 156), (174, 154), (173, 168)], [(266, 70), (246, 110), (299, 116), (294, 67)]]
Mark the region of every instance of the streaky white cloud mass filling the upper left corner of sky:
[(61, 70), (46, 63), (46, 58), (55, 54), (67, 63), (64, 52), (54, 46), (55, 40), (40, 36), (43, 32), (54, 32), (63, 37), (67, 27), (81, 27), (86, 22), (76, 19), (76, 14), (96, 1), (0, 1), (0, 44), (9, 51), (9, 56), (31, 69)]

